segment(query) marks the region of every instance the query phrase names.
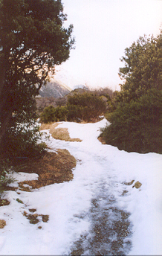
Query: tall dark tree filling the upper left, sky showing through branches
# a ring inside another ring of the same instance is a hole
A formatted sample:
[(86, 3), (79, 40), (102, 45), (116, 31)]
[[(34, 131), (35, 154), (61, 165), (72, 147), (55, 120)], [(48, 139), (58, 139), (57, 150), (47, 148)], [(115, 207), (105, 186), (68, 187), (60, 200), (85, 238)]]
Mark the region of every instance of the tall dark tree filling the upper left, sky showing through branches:
[(68, 59), (74, 39), (65, 20), (61, 0), (0, 0), (0, 141), (32, 118), (33, 97)]

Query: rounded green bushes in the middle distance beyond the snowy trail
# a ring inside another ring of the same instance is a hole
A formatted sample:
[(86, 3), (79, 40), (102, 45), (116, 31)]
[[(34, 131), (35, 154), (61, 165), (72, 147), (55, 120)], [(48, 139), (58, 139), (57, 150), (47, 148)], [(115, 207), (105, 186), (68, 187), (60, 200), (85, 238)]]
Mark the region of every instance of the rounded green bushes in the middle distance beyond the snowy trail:
[(48, 106), (40, 115), (43, 123), (56, 121), (92, 121), (106, 112), (103, 97), (90, 92), (68, 95), (66, 106)]

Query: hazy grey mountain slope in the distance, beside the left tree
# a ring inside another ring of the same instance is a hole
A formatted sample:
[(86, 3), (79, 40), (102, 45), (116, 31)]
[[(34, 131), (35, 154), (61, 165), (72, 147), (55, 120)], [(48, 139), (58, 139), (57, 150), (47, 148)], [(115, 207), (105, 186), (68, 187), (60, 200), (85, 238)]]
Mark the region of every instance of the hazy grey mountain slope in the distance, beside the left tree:
[(46, 86), (42, 86), (39, 90), (39, 95), (41, 97), (65, 97), (65, 95), (68, 95), (69, 92), (71, 92), (72, 89), (66, 86), (64, 83), (62, 83), (59, 80), (51, 80), (51, 82), (48, 82)]

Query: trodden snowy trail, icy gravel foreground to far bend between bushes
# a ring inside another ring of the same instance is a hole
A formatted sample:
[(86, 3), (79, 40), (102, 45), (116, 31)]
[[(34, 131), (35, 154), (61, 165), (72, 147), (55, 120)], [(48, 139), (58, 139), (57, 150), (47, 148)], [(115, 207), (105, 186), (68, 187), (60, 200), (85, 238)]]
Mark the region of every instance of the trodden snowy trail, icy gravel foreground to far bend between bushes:
[[(67, 127), (67, 124), (71, 127), (71, 123), (64, 123), (59, 127)], [(118, 206), (118, 198), (124, 196), (123, 191), (126, 191), (126, 185), (117, 179), (117, 173), (111, 167), (111, 158), (108, 160), (107, 153), (104, 154), (103, 145), (96, 140), (102, 122), (96, 130), (94, 130), (94, 124), (74, 125), (77, 127), (75, 129), (73, 127), (72, 131), (68, 127), (69, 132), (72, 138), (82, 138), (82, 143), (56, 142), (50, 139), (51, 148), (68, 149), (76, 159), (79, 159), (77, 168), (74, 170), (74, 191), (71, 191), (71, 195), (74, 197), (79, 194), (80, 197), (73, 198), (74, 204), (77, 202), (77, 209), (73, 213), (71, 223), (83, 222), (87, 226), (85, 230), (74, 231), (71, 246), (68, 245), (64, 253), (123, 255), (129, 252), (132, 244), (129, 213)], [(82, 132), (82, 129), (85, 131)], [(93, 134), (94, 131), (95, 134)], [(67, 221), (67, 225), (68, 223)]]

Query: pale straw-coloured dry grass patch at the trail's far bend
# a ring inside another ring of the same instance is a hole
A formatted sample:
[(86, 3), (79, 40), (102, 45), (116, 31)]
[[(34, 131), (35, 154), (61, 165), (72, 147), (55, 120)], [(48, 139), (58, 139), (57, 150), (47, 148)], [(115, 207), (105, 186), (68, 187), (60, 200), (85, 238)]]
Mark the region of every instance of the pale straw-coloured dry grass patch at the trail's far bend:
[(69, 135), (69, 132), (68, 132), (68, 128), (57, 128), (57, 129), (55, 129), (59, 124), (60, 123), (42, 124), (42, 126), (39, 129), (40, 130), (50, 129), (50, 133), (51, 133), (52, 137), (56, 138), (58, 140), (77, 141), (77, 142), (82, 141), (80, 138), (71, 138), (70, 135)]

